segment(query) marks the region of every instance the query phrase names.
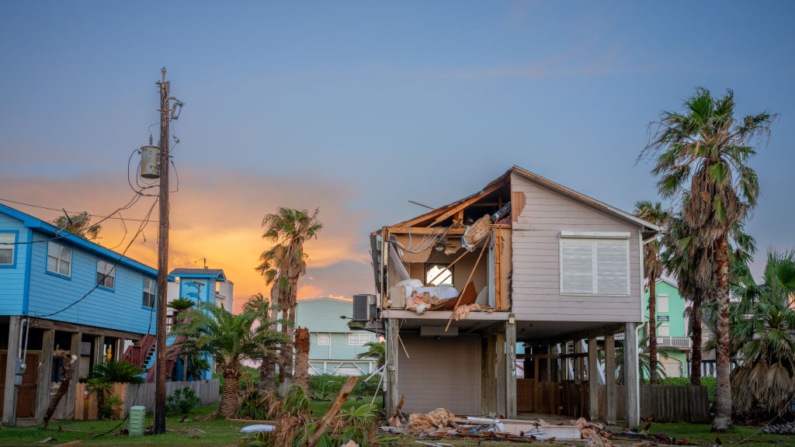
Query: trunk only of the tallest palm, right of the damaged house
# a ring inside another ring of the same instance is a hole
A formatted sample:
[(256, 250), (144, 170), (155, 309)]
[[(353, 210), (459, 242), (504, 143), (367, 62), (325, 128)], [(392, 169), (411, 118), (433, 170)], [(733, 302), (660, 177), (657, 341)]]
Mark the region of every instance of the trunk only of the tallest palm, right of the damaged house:
[(715, 261), (717, 282), (715, 335), (718, 343), (715, 348), (717, 384), (712, 431), (725, 432), (732, 428), (731, 363), (729, 360), (729, 252), (726, 236), (723, 236), (715, 244)]

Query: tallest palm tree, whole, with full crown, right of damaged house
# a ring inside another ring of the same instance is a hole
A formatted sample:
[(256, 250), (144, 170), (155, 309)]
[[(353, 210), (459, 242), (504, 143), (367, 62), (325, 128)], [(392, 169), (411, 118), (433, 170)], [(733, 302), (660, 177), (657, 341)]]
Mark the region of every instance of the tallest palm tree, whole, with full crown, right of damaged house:
[[(652, 172), (667, 198), (689, 192), (682, 201), (682, 216), (697, 235), (704, 255), (714, 269), (696, 271), (697, 282), (708, 288), (714, 282), (717, 302), (717, 387), (713, 431), (731, 428), (729, 363), (729, 237), (756, 205), (759, 183), (748, 167), (755, 154), (752, 142), (769, 135), (775, 116), (768, 113), (737, 119), (734, 94), (722, 98), (698, 89), (688, 99), (685, 112), (665, 112), (656, 124), (644, 153), (657, 155)], [(641, 154), (643, 155), (643, 154)]]

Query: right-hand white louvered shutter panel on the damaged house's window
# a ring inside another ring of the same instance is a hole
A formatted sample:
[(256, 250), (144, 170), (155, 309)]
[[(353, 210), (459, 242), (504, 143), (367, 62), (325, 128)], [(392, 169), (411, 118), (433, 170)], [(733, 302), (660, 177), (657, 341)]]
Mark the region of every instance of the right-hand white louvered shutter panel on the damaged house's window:
[(596, 294), (629, 294), (629, 241), (597, 239)]

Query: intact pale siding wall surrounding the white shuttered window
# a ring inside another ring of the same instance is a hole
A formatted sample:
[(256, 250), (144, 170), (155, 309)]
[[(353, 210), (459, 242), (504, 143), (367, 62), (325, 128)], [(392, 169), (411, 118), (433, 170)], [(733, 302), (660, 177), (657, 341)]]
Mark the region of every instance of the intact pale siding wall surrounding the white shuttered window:
[[(513, 223), (513, 312), (520, 320), (635, 322), (641, 315), (639, 228), (514, 175), (524, 193)], [(629, 232), (629, 296), (561, 295), (560, 232)]]

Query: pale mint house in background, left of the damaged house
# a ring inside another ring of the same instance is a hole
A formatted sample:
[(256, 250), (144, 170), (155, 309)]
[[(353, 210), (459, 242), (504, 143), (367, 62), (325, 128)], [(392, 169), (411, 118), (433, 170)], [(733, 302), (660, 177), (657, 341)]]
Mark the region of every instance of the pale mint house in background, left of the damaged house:
[(364, 344), (377, 341), (376, 336), (348, 328), (352, 309), (349, 300), (313, 298), (298, 301), (295, 325), (309, 329), (310, 374), (360, 376), (375, 372), (375, 360), (357, 359), (356, 355), (367, 351)]

